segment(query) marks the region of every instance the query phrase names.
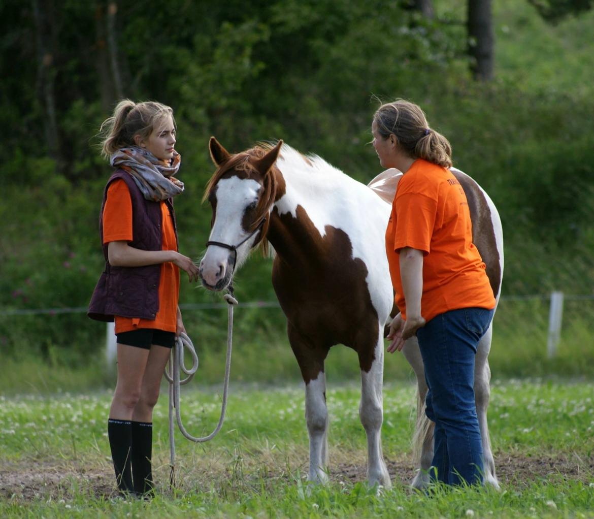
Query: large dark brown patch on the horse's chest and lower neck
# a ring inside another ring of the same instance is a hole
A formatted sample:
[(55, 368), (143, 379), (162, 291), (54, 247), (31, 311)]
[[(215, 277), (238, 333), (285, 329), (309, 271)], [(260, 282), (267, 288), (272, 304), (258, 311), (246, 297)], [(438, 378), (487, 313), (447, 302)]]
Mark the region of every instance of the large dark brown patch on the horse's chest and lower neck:
[(368, 372), (378, 337), (365, 263), (352, 257), (352, 244), (343, 230), (324, 230), (321, 236), (300, 205), (296, 218), (275, 209), (268, 229), (277, 253), (272, 282), (306, 384), (324, 371), (324, 359), (334, 344), (354, 349), (359, 366)]

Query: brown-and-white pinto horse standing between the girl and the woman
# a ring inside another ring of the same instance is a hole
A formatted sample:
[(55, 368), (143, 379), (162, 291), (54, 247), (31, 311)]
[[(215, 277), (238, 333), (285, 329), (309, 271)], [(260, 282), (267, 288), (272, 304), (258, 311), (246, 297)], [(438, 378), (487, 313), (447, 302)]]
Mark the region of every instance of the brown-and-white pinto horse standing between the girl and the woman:
[[(304, 156), (282, 141), (274, 147), (259, 145), (230, 154), (211, 137), (209, 147), (217, 169), (204, 194), (213, 213), (207, 250), (200, 262), (203, 285), (210, 290), (225, 289), (251, 249), (261, 244), (266, 250), (270, 242), (276, 252), (272, 283), (305, 382), (308, 479), (328, 479), (324, 361), (330, 347), (344, 344), (355, 350), (361, 369), (359, 417), (367, 435), (368, 482), (390, 487), (381, 425), (384, 328), (394, 306), (384, 245), (391, 203), (378, 194), (395, 192), (396, 176), (377, 182), (381, 189), (375, 192), (320, 157)], [(472, 179), (462, 172), (454, 174), (469, 200), (473, 238), (498, 297), (503, 255), (497, 210)], [(476, 355), (475, 395), (485, 480), (497, 486), (486, 423), (490, 344), (491, 329)], [(415, 437), (421, 461), (412, 485), (422, 488), (428, 483), (433, 428), (422, 405), (427, 387), (416, 338), (407, 341), (403, 352), (418, 382)]]

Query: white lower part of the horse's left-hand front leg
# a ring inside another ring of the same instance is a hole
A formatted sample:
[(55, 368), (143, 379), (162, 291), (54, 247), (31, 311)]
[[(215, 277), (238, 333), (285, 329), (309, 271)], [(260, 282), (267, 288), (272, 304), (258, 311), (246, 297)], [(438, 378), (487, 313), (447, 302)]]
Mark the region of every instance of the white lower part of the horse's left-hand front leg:
[(326, 375), (305, 385), (305, 422), (309, 433), (309, 481), (326, 482), (328, 409), (326, 407)]

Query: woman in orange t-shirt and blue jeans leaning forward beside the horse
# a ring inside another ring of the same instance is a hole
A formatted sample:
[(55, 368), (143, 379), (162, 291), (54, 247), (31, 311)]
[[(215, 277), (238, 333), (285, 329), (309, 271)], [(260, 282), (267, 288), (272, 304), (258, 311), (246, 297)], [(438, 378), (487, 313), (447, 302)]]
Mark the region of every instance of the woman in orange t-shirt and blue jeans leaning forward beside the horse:
[[(482, 480), (481, 431), (474, 367), (495, 298), (472, 243), (466, 195), (450, 172), (451, 147), (429, 128), (414, 103), (380, 106), (371, 131), (383, 167), (404, 173), (386, 230), (396, 305), (388, 352), (416, 335), (429, 391), (426, 415), (435, 422), (432, 466), (449, 485)], [(433, 476), (434, 474), (432, 474)]]

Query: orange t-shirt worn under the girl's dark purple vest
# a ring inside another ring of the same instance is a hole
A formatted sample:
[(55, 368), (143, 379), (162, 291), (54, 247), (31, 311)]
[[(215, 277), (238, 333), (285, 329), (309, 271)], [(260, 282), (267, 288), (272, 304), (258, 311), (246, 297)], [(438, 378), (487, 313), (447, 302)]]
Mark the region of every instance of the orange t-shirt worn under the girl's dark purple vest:
[[(173, 218), (165, 202), (161, 202), (163, 251), (178, 249)], [(108, 188), (103, 208), (103, 243), (132, 241), (132, 198), (127, 184), (116, 179)], [(159, 280), (159, 311), (153, 320), (115, 316), (115, 333), (137, 328), (157, 328), (175, 332), (179, 299), (179, 268), (172, 262), (161, 264)]]

